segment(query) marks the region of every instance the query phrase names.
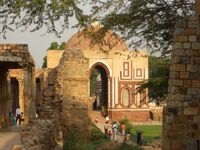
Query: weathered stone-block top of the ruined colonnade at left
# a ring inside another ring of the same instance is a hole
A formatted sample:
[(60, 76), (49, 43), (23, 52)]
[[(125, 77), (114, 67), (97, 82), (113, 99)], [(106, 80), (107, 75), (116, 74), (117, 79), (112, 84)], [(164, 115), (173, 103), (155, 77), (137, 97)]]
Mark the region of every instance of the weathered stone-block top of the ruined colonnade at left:
[(0, 44), (0, 62), (15, 62), (21, 67), (35, 66), (27, 44)]

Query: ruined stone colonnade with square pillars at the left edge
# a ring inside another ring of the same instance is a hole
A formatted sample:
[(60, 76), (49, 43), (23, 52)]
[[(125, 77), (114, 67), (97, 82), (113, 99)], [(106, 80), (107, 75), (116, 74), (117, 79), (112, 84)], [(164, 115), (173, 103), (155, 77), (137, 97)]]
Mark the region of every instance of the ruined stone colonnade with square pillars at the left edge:
[(8, 126), (8, 114), (17, 105), (28, 124), (35, 111), (35, 63), (27, 45), (0, 44), (0, 76), (0, 128)]

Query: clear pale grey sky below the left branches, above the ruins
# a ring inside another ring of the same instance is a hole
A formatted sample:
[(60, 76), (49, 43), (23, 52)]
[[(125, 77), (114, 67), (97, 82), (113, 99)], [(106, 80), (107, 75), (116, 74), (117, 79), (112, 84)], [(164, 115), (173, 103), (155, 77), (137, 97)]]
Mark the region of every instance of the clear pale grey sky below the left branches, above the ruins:
[(35, 60), (36, 68), (41, 68), (43, 58), (46, 56), (47, 49), (51, 43), (54, 41), (59, 44), (63, 41), (67, 42), (76, 32), (78, 32), (78, 29), (66, 29), (61, 38), (58, 38), (53, 33), (44, 35), (45, 29), (35, 32), (10, 31), (6, 34), (6, 39), (0, 34), (0, 44), (28, 44), (29, 52)]

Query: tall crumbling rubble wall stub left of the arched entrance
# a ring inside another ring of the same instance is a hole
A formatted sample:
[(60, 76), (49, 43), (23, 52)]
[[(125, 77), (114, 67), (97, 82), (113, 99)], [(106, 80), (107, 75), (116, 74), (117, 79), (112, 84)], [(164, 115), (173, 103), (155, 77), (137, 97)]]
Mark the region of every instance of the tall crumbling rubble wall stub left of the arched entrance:
[[(88, 142), (89, 61), (78, 49), (65, 50), (59, 65), (56, 91), (63, 99), (61, 125), (65, 142), (76, 132), (78, 143)], [(74, 133), (72, 133), (74, 131)]]

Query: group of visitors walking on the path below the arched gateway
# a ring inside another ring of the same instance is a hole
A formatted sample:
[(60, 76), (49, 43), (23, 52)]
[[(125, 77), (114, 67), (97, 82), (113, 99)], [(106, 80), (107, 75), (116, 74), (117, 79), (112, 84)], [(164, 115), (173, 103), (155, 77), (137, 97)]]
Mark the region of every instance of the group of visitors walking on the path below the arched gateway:
[(106, 119), (104, 124), (104, 132), (105, 135), (114, 142), (118, 141), (117, 134), (121, 134), (123, 136), (124, 142), (130, 141), (130, 132), (126, 132), (126, 125), (124, 123), (120, 124), (119, 122), (115, 121), (109, 125), (109, 120)]

